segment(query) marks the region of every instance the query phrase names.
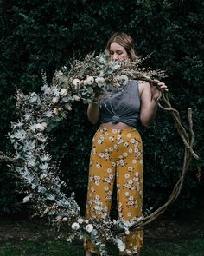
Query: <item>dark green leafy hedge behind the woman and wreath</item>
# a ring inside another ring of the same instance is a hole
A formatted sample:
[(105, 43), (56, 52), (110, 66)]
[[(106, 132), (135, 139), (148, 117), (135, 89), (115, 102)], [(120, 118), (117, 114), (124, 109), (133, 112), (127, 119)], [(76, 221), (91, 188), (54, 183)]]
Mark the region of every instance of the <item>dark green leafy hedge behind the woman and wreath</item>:
[[(112, 33), (124, 31), (136, 43), (137, 54), (146, 56), (152, 69), (165, 69), (169, 98), (187, 126), (187, 109), (193, 108), (195, 151), (202, 155), (203, 128), (203, 19), (201, 0), (65, 1), (0, 0), (0, 150), (13, 152), (7, 137), (16, 121), (15, 88), (39, 91), (41, 69), (51, 79), (54, 70), (73, 58), (99, 53)], [(50, 132), (50, 152), (61, 160), (61, 177), (67, 194), (76, 192), (84, 209), (88, 161), (96, 127), (87, 121), (86, 106), (76, 104), (67, 120)], [(140, 128), (145, 159), (144, 208), (165, 202), (181, 174), (182, 141), (168, 113), (158, 111), (149, 128)], [(197, 179), (202, 161), (192, 161), (175, 209), (196, 206)], [(1, 165), (0, 213), (22, 211), (21, 181)]]

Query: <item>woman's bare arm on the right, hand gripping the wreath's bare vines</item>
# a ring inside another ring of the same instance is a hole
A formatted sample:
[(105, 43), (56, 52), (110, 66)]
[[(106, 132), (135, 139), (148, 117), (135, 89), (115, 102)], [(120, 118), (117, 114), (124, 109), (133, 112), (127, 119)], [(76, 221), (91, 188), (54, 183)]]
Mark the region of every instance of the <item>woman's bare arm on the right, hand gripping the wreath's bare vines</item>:
[[(139, 84), (141, 91), (141, 110), (140, 121), (144, 126), (150, 125), (150, 123), (156, 117), (157, 102), (160, 92), (156, 89), (156, 86), (150, 86), (149, 82), (141, 82)], [(167, 86), (163, 82), (159, 82), (158, 86), (161, 89), (168, 91)]]

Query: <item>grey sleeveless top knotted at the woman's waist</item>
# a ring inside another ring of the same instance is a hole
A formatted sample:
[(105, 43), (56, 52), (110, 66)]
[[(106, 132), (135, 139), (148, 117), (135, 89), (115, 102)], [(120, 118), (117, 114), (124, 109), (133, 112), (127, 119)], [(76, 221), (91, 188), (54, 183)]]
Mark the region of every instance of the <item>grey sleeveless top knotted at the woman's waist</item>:
[(131, 80), (124, 85), (124, 89), (113, 92), (106, 98), (100, 99), (100, 123), (124, 122), (137, 128), (139, 121), (141, 99), (139, 96), (138, 82)]

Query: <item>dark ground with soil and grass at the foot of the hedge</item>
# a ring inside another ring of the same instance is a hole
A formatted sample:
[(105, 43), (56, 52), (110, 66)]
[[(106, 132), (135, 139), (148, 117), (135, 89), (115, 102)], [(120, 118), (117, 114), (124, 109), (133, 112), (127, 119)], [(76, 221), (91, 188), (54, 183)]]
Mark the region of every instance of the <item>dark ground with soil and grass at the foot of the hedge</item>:
[[(160, 218), (144, 230), (141, 256), (204, 256), (204, 220)], [(0, 220), (0, 256), (83, 256), (82, 242), (68, 244), (39, 220)], [(114, 248), (112, 255), (117, 256)]]

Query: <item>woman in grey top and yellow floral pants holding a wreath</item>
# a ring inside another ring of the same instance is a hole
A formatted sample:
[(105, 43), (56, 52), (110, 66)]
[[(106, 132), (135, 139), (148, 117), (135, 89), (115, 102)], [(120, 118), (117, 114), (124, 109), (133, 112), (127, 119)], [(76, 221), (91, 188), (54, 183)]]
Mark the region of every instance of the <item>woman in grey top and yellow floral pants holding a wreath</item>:
[[(134, 42), (125, 33), (116, 33), (106, 49), (113, 61), (137, 58)], [(158, 86), (168, 91), (163, 82)], [(97, 210), (102, 202), (110, 213), (113, 184), (116, 180), (118, 218), (132, 220), (142, 216), (143, 205), (143, 142), (137, 131), (140, 120), (150, 125), (156, 116), (159, 89), (149, 82), (129, 81), (124, 89), (110, 97), (89, 104), (87, 115), (92, 124), (100, 127), (92, 140), (86, 218), (104, 218)], [(121, 234), (125, 250), (121, 254), (139, 255), (143, 246), (143, 232)], [(86, 242), (86, 256), (96, 253), (92, 243)]]

